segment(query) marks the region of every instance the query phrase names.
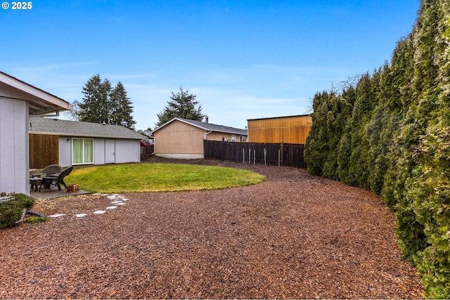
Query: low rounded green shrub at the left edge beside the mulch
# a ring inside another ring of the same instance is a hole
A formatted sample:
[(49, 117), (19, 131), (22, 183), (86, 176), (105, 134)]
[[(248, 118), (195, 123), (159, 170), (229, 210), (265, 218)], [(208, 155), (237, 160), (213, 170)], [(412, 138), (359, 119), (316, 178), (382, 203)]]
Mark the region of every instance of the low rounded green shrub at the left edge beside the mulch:
[(34, 199), (25, 194), (9, 194), (14, 200), (0, 203), (0, 229), (10, 228), (23, 218), (24, 211), (31, 209)]

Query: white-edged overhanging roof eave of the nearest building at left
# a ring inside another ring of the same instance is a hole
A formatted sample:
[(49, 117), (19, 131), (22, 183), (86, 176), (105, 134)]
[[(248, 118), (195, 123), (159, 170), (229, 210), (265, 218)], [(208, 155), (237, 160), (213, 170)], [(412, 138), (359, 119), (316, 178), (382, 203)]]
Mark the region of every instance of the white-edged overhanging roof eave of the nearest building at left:
[(4, 72), (0, 72), (0, 98), (28, 101), (29, 115), (44, 115), (73, 107), (67, 101)]

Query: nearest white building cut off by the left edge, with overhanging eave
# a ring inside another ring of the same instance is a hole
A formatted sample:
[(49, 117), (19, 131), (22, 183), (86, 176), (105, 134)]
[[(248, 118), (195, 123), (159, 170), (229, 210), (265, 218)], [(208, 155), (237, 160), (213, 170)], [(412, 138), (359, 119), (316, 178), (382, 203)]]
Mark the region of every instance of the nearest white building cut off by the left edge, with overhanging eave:
[(67, 101), (0, 72), (0, 192), (30, 195), (28, 117), (71, 109)]

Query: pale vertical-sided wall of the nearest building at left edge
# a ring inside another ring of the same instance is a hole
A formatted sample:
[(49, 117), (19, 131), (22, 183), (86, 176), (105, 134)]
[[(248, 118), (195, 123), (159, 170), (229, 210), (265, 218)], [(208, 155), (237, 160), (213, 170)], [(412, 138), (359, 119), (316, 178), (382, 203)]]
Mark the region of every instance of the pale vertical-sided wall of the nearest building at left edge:
[(30, 195), (28, 105), (0, 98), (0, 192)]

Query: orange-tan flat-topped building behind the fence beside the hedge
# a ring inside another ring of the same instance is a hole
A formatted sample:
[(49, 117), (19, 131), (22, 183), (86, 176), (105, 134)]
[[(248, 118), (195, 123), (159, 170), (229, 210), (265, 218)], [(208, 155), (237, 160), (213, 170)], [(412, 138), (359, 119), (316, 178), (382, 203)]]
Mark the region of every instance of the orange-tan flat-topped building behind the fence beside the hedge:
[(248, 141), (304, 144), (312, 126), (310, 115), (248, 119)]

